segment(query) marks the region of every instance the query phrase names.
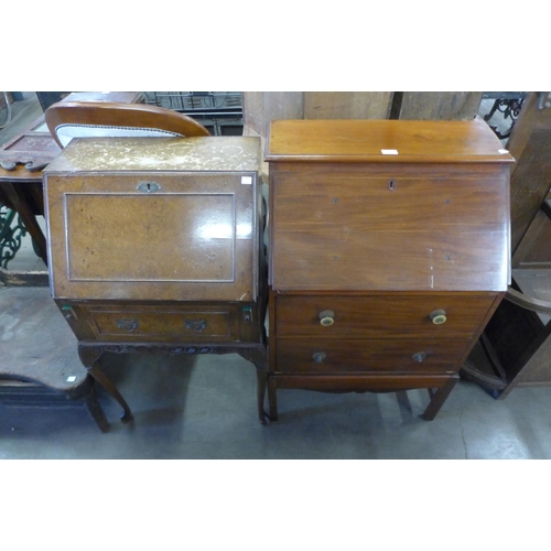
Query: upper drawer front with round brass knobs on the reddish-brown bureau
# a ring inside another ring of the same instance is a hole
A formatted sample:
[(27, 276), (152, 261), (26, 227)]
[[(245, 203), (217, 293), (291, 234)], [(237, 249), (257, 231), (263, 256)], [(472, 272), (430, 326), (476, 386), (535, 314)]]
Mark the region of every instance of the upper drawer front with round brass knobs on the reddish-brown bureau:
[(276, 295), (278, 336), (449, 337), (476, 333), (495, 294), (483, 296)]

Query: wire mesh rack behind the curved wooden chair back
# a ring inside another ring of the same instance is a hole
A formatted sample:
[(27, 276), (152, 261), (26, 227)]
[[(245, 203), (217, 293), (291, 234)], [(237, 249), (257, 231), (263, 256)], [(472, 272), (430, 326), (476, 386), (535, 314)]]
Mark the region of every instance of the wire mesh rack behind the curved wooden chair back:
[(188, 115), (214, 136), (242, 133), (240, 91), (144, 91), (143, 95), (147, 104)]

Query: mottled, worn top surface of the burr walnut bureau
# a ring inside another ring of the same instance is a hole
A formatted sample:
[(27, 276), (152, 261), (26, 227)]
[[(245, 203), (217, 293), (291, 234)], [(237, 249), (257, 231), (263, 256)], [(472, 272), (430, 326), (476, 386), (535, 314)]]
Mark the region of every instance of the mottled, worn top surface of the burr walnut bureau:
[(52, 172), (258, 171), (260, 139), (86, 138), (74, 139), (50, 163)]

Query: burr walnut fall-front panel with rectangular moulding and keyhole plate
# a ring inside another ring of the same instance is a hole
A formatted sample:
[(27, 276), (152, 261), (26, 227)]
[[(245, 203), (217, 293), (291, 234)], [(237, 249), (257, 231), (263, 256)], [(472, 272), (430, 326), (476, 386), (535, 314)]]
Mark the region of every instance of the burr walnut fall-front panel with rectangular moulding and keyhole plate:
[(46, 194), (54, 296), (256, 299), (255, 173), (52, 174)]

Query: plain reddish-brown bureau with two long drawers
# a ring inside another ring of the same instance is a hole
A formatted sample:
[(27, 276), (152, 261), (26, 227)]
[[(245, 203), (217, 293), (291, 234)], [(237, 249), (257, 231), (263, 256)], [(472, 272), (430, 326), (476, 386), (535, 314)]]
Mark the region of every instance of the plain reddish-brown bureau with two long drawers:
[(429, 389), (434, 419), (510, 280), (510, 154), (471, 121), (277, 120), (270, 418), (279, 388)]

